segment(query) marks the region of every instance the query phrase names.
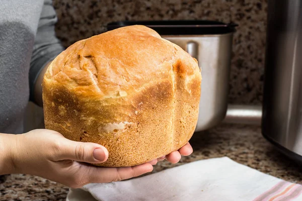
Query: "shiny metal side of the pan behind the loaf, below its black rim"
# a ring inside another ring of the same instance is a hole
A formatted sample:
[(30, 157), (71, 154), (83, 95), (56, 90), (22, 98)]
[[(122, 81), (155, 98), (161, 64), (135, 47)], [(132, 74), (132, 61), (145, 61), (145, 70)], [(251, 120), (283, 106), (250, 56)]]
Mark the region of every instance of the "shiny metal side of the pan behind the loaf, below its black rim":
[(186, 50), (202, 69), (202, 95), (195, 131), (216, 126), (224, 119), (228, 108), (233, 33), (162, 37)]

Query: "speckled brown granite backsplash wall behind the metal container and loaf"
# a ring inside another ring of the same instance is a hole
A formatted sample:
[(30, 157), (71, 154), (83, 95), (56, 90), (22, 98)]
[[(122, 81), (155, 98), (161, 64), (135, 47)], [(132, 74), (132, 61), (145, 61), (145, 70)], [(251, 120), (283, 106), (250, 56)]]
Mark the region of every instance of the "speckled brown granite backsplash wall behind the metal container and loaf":
[(233, 41), (229, 102), (260, 104), (267, 0), (53, 0), (65, 47), (123, 20), (216, 20), (239, 25)]

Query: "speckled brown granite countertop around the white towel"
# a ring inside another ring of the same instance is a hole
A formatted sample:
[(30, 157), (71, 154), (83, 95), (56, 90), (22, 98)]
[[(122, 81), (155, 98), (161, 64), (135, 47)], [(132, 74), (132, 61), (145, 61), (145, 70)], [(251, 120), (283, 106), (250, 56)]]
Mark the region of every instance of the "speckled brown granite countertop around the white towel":
[[(302, 172), (298, 165), (275, 150), (262, 137), (258, 126), (222, 124), (195, 133), (190, 142), (194, 149), (191, 156), (183, 157), (174, 165), (161, 161), (153, 172), (195, 160), (228, 156), (264, 173), (302, 183)], [(0, 176), (0, 200), (65, 200), (67, 192), (68, 187), (37, 176)]]

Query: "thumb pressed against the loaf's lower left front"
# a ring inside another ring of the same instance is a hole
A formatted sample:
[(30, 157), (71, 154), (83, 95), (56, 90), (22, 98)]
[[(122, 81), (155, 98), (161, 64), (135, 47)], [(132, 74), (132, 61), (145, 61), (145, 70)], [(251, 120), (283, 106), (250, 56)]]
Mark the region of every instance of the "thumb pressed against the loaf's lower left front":
[(59, 153), (60, 160), (74, 160), (87, 163), (103, 163), (108, 159), (108, 150), (91, 142), (64, 140)]

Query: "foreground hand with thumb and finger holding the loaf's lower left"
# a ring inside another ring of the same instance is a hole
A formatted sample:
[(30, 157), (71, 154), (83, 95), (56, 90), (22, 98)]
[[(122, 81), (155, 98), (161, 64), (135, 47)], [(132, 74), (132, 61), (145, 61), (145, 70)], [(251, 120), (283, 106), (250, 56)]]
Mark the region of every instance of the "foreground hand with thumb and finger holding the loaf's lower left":
[[(38, 129), (16, 135), (10, 146), (13, 172), (41, 176), (69, 187), (105, 183), (136, 177), (153, 170), (157, 160), (121, 168), (96, 167), (108, 158), (105, 147), (96, 143), (75, 142), (61, 134)], [(87, 162), (87, 163), (84, 163)]]

